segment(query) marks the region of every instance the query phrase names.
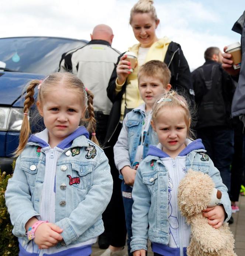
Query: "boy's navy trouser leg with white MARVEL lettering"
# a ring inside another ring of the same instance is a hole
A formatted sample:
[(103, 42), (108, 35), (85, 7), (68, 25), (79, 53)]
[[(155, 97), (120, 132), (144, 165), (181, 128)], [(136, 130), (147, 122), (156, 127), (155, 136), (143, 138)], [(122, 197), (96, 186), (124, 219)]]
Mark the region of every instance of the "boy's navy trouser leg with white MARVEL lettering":
[(121, 191), (123, 196), (123, 205), (125, 211), (125, 220), (126, 220), (126, 227), (127, 227), (127, 245), (128, 245), (128, 256), (132, 256), (133, 254), (130, 252), (130, 242), (132, 237), (132, 205), (134, 203), (132, 199), (132, 188), (125, 184), (124, 180), (122, 181)]

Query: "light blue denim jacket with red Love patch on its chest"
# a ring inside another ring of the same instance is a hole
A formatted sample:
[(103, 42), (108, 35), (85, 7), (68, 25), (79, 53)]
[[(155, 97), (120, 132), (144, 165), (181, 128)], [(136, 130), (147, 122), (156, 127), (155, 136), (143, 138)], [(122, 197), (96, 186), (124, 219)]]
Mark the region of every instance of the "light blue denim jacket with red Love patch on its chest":
[[(96, 154), (90, 154), (91, 146)], [(67, 148), (58, 150), (62, 153), (54, 170), (53, 186), (55, 224), (63, 229), (63, 242), (56, 246), (61, 247), (103, 233), (101, 215), (110, 201), (113, 180), (104, 151), (84, 135), (76, 137)], [(16, 161), (13, 178), (8, 181), (6, 205), (14, 226), (12, 232), (19, 241), (24, 239), (22, 244), (29, 241), (25, 235), (27, 221), (33, 216), (40, 219), (45, 162), (43, 145), (28, 142)]]

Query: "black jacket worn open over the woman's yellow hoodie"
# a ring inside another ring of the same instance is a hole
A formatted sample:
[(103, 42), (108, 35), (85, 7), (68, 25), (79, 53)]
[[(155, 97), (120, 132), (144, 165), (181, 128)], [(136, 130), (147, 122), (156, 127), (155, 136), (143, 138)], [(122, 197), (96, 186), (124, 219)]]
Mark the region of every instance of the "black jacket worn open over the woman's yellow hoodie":
[[(117, 64), (123, 55), (124, 53), (118, 57)], [(189, 97), (191, 102), (194, 102), (194, 96), (193, 96), (194, 91), (191, 83), (191, 74), (190, 74), (189, 65), (186, 61), (186, 58), (184, 57), (183, 51), (179, 44), (173, 41), (169, 44), (164, 62), (166, 63), (166, 65), (168, 65), (171, 71), (170, 84), (172, 85), (172, 89), (173, 90), (177, 89), (180, 94), (184, 94), (186, 97)], [(115, 129), (117, 128), (117, 125), (120, 121), (121, 100), (126, 87), (126, 81), (125, 81), (122, 90), (118, 94), (115, 94), (117, 64), (115, 65), (113, 73), (111, 74), (111, 78), (107, 87), (107, 96), (113, 102), (113, 107), (110, 112), (110, 117), (108, 121), (108, 130), (107, 130), (107, 135), (105, 140), (105, 142), (107, 143), (109, 142), (109, 144), (110, 144), (111, 138), (113, 137)]]

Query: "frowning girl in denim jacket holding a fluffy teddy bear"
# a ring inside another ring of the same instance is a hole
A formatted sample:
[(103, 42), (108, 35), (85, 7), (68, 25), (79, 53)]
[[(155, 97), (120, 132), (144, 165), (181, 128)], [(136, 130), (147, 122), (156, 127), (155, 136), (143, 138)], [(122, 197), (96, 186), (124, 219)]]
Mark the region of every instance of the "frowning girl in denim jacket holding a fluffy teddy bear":
[(186, 255), (190, 226), (178, 210), (177, 188), (189, 169), (210, 175), (222, 192), (220, 205), (203, 211), (208, 223), (219, 228), (231, 217), (227, 187), (201, 139), (191, 139), (190, 124), (187, 101), (175, 91), (167, 92), (153, 105), (151, 125), (160, 143), (149, 146), (134, 181), (130, 243), (134, 256), (146, 255), (148, 238), (154, 256)]

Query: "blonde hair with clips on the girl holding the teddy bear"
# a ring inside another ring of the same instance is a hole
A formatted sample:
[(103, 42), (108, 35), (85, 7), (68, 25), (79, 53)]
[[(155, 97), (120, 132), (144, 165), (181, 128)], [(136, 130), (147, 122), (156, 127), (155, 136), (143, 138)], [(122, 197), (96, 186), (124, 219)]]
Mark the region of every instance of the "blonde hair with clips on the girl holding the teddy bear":
[(166, 92), (153, 105), (152, 121), (155, 123), (158, 112), (162, 108), (165, 108), (165, 107), (171, 107), (171, 108), (180, 107), (180, 108), (183, 109), (183, 111), (185, 113), (184, 120), (185, 120), (186, 126), (187, 126), (187, 138), (193, 140), (193, 138), (195, 138), (195, 135), (194, 135), (194, 132), (190, 129), (191, 112), (190, 112), (190, 107), (189, 106), (190, 106), (190, 104), (186, 101), (186, 99), (182, 95), (179, 95), (176, 91)]

